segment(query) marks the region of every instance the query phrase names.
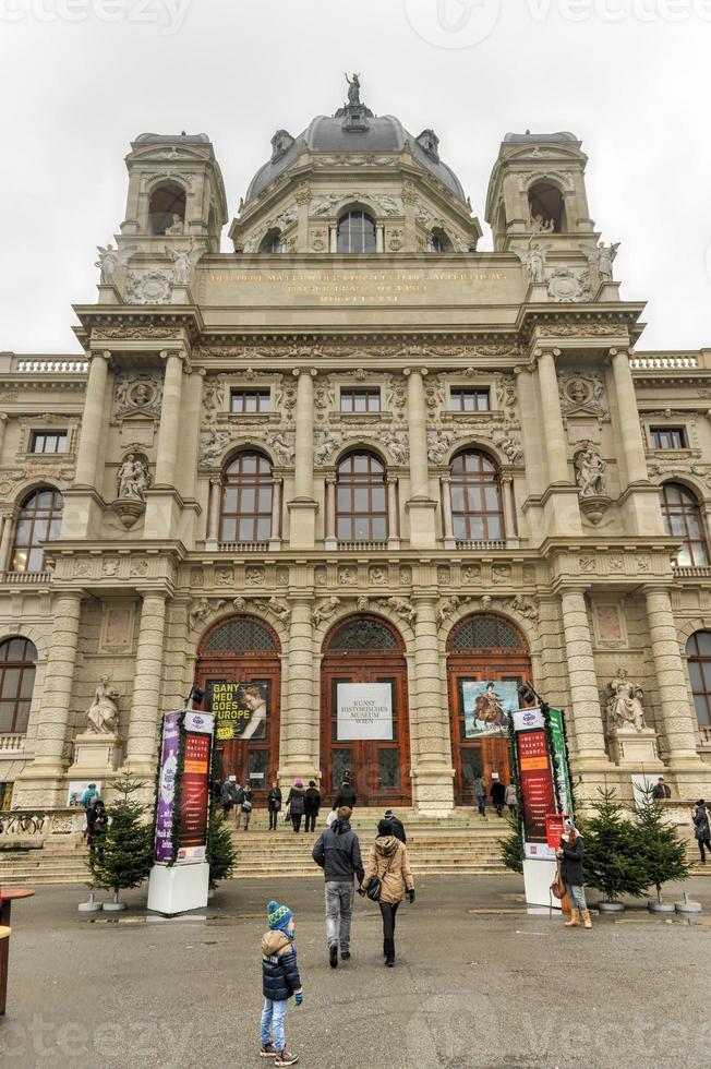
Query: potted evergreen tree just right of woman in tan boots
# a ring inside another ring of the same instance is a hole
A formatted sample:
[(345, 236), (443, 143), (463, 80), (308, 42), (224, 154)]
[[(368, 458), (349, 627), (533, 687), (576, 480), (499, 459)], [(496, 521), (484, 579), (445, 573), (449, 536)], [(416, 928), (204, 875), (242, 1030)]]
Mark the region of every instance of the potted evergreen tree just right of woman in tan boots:
[(625, 808), (613, 789), (598, 789), (600, 798), (592, 803), (593, 816), (580, 830), (585, 840), (582, 874), (585, 882), (601, 891), (598, 903), (602, 913), (625, 909), (620, 894), (641, 898), (649, 886), (647, 864), (636, 825), (627, 819)]

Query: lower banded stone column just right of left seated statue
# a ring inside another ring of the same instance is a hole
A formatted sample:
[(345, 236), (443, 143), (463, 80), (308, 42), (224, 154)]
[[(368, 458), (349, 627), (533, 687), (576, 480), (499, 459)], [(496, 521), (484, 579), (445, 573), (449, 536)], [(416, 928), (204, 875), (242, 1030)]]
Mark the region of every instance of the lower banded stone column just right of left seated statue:
[(160, 706), (160, 683), (166, 633), (166, 594), (143, 594), (133, 676), (133, 702), (125, 752), (125, 768), (137, 776), (155, 774)]

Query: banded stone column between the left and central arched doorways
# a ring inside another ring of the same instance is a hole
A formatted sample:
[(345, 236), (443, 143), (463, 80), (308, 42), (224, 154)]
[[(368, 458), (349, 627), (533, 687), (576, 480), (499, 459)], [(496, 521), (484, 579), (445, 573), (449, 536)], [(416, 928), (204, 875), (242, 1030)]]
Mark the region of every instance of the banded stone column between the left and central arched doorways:
[(279, 777), (293, 782), (318, 772), (318, 695), (314, 690), (313, 622), (311, 597), (291, 601), (289, 624), (289, 680), (281, 705)]

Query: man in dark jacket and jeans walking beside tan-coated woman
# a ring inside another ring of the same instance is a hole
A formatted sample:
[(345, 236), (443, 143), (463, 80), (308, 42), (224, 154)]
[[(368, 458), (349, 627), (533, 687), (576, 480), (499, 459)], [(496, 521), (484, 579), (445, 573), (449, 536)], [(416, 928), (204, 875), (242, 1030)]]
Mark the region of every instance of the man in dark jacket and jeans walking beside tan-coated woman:
[(350, 958), (350, 925), (353, 916), (353, 877), (359, 890), (363, 882), (363, 863), (358, 836), (351, 830), (351, 810), (347, 805), (336, 809), (336, 819), (316, 840), (313, 860), (323, 868), (326, 879), (326, 946), (332, 969), (338, 968), (338, 947), (342, 961)]

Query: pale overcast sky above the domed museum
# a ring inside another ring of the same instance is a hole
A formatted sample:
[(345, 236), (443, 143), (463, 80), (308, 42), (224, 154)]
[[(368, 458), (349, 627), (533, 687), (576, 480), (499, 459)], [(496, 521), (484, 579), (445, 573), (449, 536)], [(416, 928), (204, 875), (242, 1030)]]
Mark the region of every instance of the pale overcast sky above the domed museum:
[[(110, 21), (109, 21), (110, 20)], [(230, 218), (346, 96), (433, 127), (484, 227), (507, 131), (571, 130), (640, 349), (711, 344), (711, 0), (0, 0), (0, 350), (74, 352), (143, 131), (207, 132)], [(228, 250), (226, 237), (222, 249)]]

